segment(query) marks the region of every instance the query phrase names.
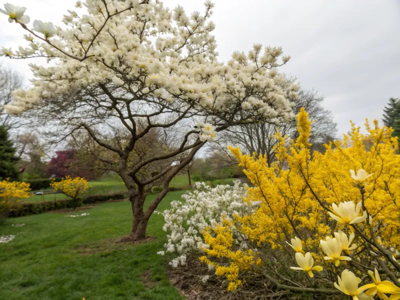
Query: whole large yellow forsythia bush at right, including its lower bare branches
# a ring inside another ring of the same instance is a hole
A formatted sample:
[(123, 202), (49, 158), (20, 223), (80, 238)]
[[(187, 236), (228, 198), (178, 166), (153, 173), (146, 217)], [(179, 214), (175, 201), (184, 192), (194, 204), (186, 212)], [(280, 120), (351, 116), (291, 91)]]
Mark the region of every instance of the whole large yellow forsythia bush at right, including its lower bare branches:
[[(400, 299), (400, 155), (392, 129), (366, 121), (364, 135), (352, 123), (342, 141), (311, 157), (310, 124), (302, 109), (290, 148), (277, 133), (271, 167), (230, 148), (253, 185), (245, 200), (261, 204), (207, 227), (200, 260), (229, 290), (251, 275), (278, 289)], [(246, 247), (237, 246), (238, 235)]]

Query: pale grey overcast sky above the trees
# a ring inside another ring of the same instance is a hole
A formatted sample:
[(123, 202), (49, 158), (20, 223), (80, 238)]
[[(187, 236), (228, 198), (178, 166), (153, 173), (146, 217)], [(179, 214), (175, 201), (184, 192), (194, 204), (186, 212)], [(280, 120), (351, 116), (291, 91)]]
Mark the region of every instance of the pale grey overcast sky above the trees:
[[(61, 24), (74, 0), (8, 0), (26, 6), (31, 18)], [(189, 14), (203, 10), (204, 0), (164, 0)], [(220, 60), (253, 43), (282, 46), (291, 55), (281, 71), (294, 75), (302, 88), (318, 90), (338, 123), (381, 119), (389, 97), (400, 96), (400, 0), (214, 0), (213, 21)], [(24, 33), (1, 15), (0, 45), (24, 44)], [(26, 60), (0, 62), (31, 78)], [(35, 61), (39, 63), (40, 61)], [(45, 63), (44, 60), (41, 62)]]

